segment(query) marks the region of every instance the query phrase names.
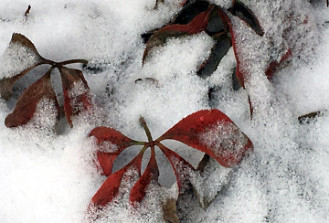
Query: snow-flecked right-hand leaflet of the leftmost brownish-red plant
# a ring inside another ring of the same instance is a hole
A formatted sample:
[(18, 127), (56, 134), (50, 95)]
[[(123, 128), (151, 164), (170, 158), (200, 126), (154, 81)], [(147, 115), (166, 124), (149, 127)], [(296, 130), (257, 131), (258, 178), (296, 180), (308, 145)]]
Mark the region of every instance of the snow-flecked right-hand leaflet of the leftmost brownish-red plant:
[(69, 126), (73, 127), (71, 117), (92, 108), (90, 88), (80, 69), (69, 69), (63, 66), (58, 69), (63, 85), (65, 116)]

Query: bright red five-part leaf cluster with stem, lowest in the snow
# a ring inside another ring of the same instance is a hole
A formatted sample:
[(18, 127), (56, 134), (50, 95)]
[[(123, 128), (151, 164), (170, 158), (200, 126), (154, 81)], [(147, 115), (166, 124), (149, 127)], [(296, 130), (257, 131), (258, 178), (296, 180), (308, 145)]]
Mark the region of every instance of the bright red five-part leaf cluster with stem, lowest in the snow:
[[(122, 133), (108, 128), (96, 127), (90, 132), (97, 140), (97, 158), (103, 175), (108, 176), (100, 189), (91, 198), (89, 210), (92, 218), (97, 217), (101, 210), (118, 196), (120, 187), (127, 181), (127, 173), (134, 171), (136, 182), (131, 189), (129, 202), (133, 207), (139, 207), (147, 193), (148, 186), (160, 186), (160, 175), (155, 158), (155, 146), (160, 149), (172, 165), (178, 186), (178, 194), (183, 195), (186, 187), (191, 184), (191, 177), (196, 169), (183, 157), (167, 148), (162, 141), (175, 140), (195, 148), (215, 159), (220, 165), (231, 167), (239, 164), (242, 158), (252, 150), (249, 138), (225, 115), (218, 110), (202, 110), (188, 115), (177, 122), (162, 136), (154, 140), (143, 117), (140, 118), (147, 141), (135, 141)], [(112, 173), (114, 160), (123, 150), (132, 145), (142, 145), (143, 148), (133, 160)], [(141, 164), (144, 152), (150, 148), (151, 157), (143, 174)], [(128, 177), (129, 178), (129, 177)]]

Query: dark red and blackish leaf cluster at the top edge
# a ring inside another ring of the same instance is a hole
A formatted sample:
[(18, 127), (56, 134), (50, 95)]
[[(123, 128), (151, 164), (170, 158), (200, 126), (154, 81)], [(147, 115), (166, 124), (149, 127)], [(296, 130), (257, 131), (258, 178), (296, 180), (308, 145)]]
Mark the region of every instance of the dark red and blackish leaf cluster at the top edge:
[[(156, 2), (158, 5), (159, 1)], [(233, 69), (234, 90), (240, 87), (246, 89), (245, 81), (249, 79), (249, 71), (244, 66), (246, 58), (240, 52), (239, 41), (237, 40), (236, 29), (231, 20), (232, 16), (237, 16), (247, 26), (249, 26), (258, 36), (262, 37), (264, 31), (260, 26), (260, 22), (247, 5), (240, 0), (232, 0), (231, 6), (226, 9), (219, 5), (209, 4), (207, 1), (183, 1), (182, 10), (173, 19), (172, 22), (164, 27), (149, 33), (143, 34), (145, 41), (145, 49), (143, 52), (143, 63), (149, 57), (154, 47), (164, 45), (169, 37), (186, 37), (201, 32), (207, 33), (209, 37), (214, 39), (214, 46), (211, 49), (209, 58), (197, 69), (196, 75), (202, 79), (207, 79), (218, 68), (221, 59), (227, 54), (228, 49), (233, 47), (234, 55), (237, 61), (236, 68)], [(274, 71), (280, 69), (280, 66), (287, 59), (291, 58), (292, 51), (287, 49), (279, 59), (271, 58), (268, 61), (267, 69), (263, 72), (268, 78), (272, 79)], [(237, 82), (237, 83), (236, 83)], [(211, 93), (212, 89), (209, 89)], [(249, 100), (250, 115), (252, 115), (252, 105)]]

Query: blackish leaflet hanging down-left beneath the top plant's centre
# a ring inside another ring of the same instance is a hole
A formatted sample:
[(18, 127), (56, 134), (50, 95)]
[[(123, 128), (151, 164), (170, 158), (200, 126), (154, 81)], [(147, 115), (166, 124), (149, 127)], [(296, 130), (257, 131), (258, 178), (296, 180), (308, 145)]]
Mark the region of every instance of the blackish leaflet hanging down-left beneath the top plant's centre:
[(217, 68), (220, 60), (227, 54), (231, 47), (230, 37), (227, 34), (222, 34), (219, 37), (214, 37), (216, 44), (211, 50), (211, 54), (207, 61), (202, 65), (202, 68), (197, 70), (197, 75), (202, 79), (209, 77)]

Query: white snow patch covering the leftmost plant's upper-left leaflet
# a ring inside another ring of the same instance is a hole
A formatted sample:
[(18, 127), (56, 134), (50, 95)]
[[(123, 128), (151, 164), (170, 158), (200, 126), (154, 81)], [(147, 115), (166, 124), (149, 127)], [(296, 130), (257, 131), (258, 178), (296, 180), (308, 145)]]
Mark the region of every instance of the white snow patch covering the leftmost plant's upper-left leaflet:
[(38, 62), (37, 54), (30, 48), (10, 43), (0, 58), (0, 79), (13, 77)]

